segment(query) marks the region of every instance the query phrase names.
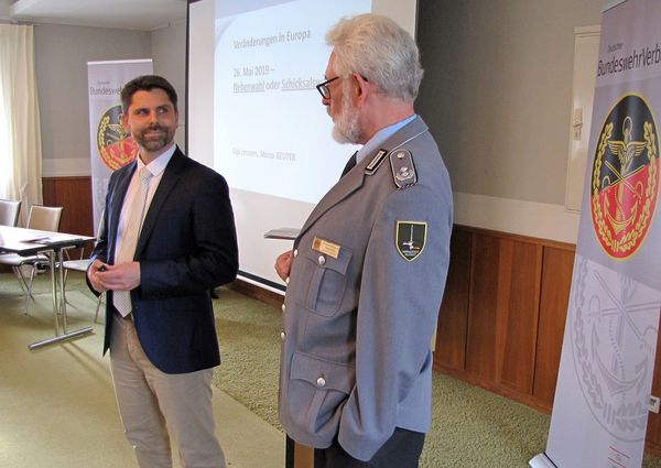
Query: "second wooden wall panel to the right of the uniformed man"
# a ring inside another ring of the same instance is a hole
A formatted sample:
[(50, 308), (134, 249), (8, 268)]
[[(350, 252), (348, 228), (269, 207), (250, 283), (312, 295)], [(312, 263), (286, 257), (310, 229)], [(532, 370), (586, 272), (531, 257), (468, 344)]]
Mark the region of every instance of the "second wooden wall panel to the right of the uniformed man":
[(473, 235), (470, 297), (466, 333), (466, 371), (477, 378), (496, 379), (496, 325), (500, 240), (494, 236)]

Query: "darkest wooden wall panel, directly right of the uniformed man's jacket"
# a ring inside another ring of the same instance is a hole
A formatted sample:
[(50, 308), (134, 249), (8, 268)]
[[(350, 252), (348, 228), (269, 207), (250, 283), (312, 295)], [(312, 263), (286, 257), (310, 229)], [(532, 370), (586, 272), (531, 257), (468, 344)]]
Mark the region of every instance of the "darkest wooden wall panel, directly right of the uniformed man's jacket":
[(449, 269), (436, 330), (434, 367), (437, 369), (463, 371), (465, 368), (472, 240), (470, 232), (453, 230)]

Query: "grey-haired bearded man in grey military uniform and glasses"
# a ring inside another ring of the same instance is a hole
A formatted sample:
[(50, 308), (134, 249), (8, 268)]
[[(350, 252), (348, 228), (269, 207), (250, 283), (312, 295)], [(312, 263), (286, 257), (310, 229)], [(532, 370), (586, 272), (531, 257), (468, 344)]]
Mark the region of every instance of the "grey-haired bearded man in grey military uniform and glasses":
[(280, 421), (316, 448), (315, 468), (418, 467), (449, 260), (449, 178), (413, 110), (422, 68), (411, 36), (364, 14), (326, 40), (317, 89), (333, 134), (364, 146), (275, 262), (289, 284)]

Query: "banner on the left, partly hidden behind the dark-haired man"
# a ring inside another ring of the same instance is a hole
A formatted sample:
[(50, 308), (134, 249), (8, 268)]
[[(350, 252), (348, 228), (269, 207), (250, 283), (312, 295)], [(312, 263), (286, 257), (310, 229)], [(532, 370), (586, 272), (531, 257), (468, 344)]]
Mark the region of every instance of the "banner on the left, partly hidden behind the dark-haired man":
[(152, 70), (151, 58), (87, 63), (95, 229), (106, 205), (110, 174), (138, 156), (138, 144), (121, 127), (119, 92), (127, 81)]

